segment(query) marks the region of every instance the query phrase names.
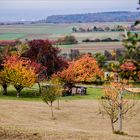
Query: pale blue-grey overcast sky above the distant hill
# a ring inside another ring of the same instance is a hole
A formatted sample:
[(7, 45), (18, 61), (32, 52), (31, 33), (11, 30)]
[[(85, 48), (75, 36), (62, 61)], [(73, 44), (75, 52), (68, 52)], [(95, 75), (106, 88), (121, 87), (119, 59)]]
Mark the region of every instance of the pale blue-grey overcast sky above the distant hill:
[(138, 0), (0, 0), (0, 22), (45, 19), (50, 15), (136, 11)]

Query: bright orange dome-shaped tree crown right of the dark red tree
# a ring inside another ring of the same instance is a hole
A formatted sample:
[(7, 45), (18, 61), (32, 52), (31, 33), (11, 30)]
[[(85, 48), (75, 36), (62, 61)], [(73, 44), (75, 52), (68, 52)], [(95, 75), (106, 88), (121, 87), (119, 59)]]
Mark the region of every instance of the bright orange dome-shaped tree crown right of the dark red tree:
[(97, 61), (90, 55), (83, 55), (80, 59), (72, 62), (69, 67), (58, 76), (69, 83), (91, 83), (103, 79), (103, 71)]

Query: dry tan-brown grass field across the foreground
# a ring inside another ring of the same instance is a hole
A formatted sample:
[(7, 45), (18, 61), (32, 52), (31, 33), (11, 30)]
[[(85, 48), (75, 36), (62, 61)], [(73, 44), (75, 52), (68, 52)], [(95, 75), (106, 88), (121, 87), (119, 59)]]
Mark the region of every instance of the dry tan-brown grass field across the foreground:
[(115, 135), (109, 119), (99, 114), (99, 103), (95, 100), (61, 101), (61, 110), (54, 110), (55, 120), (43, 102), (0, 100), (0, 107), (1, 140), (140, 139), (140, 113), (124, 122), (128, 135)]

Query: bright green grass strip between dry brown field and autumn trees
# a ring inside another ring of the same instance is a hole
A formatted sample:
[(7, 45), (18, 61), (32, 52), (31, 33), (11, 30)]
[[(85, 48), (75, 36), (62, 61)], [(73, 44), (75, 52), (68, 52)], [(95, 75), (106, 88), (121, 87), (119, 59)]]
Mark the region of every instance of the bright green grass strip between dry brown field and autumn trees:
[[(1, 88), (2, 89), (2, 88)], [(126, 92), (127, 93), (127, 92)], [(129, 98), (130, 94), (126, 94), (126, 97)], [(66, 96), (61, 97), (61, 100), (79, 100), (79, 99), (91, 99), (97, 100), (103, 96), (103, 89), (98, 87), (88, 87), (87, 95), (75, 95), (75, 96)], [(137, 99), (140, 99), (140, 94), (136, 95)], [(10, 99), (10, 100), (25, 100), (25, 101), (42, 101), (39, 95), (38, 85), (35, 84), (32, 88), (24, 88), (21, 91), (20, 98), (16, 97), (16, 90), (13, 86), (8, 87), (8, 95), (3, 96), (2, 91), (0, 91), (0, 99)]]

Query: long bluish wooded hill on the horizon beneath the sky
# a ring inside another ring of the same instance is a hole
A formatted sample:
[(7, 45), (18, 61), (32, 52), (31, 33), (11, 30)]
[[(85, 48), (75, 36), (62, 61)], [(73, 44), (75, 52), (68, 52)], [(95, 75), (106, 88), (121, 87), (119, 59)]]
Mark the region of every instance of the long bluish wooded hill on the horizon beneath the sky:
[(101, 12), (73, 15), (52, 15), (38, 23), (133, 22), (140, 19), (140, 12)]

